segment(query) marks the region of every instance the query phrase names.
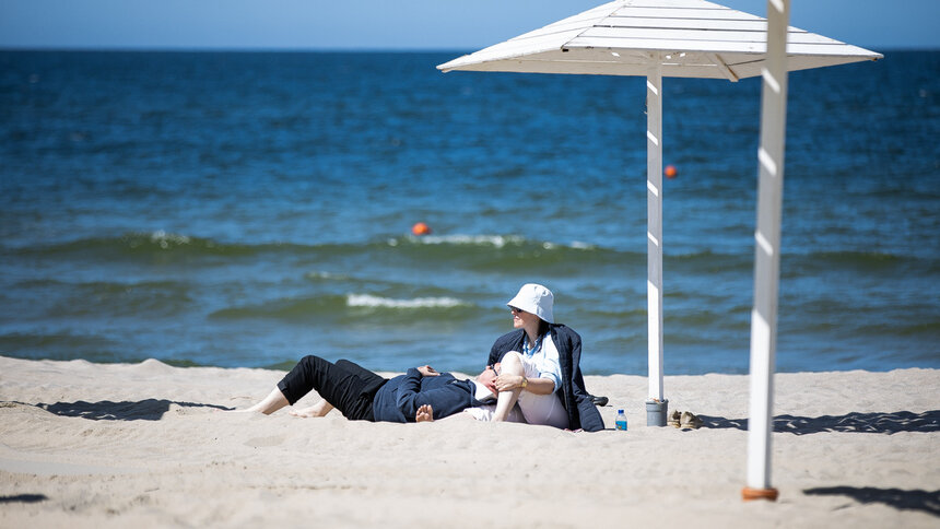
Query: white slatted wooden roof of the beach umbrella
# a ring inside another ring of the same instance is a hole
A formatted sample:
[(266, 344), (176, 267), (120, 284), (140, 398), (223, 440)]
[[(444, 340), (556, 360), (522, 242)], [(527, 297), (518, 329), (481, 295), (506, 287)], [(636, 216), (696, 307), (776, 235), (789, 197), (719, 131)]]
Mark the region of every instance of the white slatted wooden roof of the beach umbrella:
[[(737, 81), (761, 74), (767, 21), (704, 0), (619, 0), (541, 30), (465, 55), (451, 70), (646, 75)], [(789, 70), (862, 60), (880, 54), (790, 26)]]

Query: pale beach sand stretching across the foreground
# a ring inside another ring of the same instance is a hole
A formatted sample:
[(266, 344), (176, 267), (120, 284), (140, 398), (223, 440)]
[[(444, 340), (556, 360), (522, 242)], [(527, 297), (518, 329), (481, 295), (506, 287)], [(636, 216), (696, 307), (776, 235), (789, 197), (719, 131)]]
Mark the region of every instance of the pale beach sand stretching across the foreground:
[[(587, 377), (626, 433), (207, 407), (246, 407), (282, 375), (0, 357), (0, 527), (940, 525), (940, 371), (777, 375), (775, 414), (803, 419), (774, 434), (776, 503), (740, 498), (745, 431), (646, 427), (644, 377)], [(712, 425), (747, 415), (745, 376), (666, 389)]]

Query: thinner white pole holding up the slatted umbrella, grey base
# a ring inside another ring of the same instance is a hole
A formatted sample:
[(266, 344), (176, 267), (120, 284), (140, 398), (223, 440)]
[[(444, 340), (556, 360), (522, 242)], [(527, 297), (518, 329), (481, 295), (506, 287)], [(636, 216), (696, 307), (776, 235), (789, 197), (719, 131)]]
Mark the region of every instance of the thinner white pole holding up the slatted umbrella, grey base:
[[(646, 77), (646, 255), (649, 399), (646, 425), (665, 426), (662, 391), (662, 66), (654, 61)], [(649, 403), (661, 404), (650, 408)]]

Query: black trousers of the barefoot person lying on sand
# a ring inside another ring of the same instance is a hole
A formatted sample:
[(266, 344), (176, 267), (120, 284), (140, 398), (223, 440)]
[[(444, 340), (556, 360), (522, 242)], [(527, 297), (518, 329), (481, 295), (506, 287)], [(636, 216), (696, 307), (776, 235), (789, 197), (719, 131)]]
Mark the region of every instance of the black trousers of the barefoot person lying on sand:
[(375, 421), (372, 411), (375, 393), (387, 381), (387, 378), (348, 360), (333, 364), (309, 355), (301, 358), (291, 373), (278, 383), (278, 389), (292, 405), (315, 389), (346, 419)]

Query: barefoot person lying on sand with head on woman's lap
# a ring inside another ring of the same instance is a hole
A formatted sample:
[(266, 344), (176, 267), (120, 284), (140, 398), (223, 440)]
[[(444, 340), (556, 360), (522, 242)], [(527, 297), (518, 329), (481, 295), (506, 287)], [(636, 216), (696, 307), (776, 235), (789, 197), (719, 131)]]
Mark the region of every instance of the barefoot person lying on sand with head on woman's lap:
[(315, 389), (324, 400), (292, 411), (292, 415), (324, 416), (336, 408), (353, 421), (433, 421), (495, 401), (495, 378), (491, 366), (475, 380), (458, 380), (425, 365), (387, 379), (348, 360), (333, 364), (310, 355), (303, 357), (265, 400), (237, 411), (271, 414)]

